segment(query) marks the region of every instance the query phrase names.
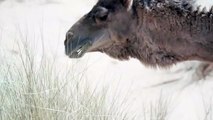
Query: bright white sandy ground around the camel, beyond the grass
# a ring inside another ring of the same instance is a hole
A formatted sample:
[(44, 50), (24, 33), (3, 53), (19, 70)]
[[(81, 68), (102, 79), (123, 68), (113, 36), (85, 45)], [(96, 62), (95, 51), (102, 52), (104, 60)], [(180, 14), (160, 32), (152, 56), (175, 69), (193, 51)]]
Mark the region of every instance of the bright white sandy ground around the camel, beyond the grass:
[[(210, 77), (199, 80), (195, 76), (198, 62), (178, 64), (170, 70), (155, 70), (145, 68), (137, 60), (119, 62), (100, 53), (90, 53), (79, 60), (68, 59), (64, 55), (65, 32), (94, 3), (92, 0), (63, 0), (50, 4), (36, 0), (2, 2), (0, 53), (5, 56), (19, 54), (15, 41), (27, 39), (38, 59), (44, 48), (47, 55), (55, 56), (59, 68), (74, 65), (75, 71), (84, 72), (84, 79), (96, 90), (109, 87), (109, 101), (124, 99), (121, 109), (135, 115), (136, 120), (143, 120), (144, 108), (148, 109), (150, 104), (168, 108), (168, 120), (211, 120), (205, 119), (205, 110), (213, 107), (213, 81)], [(199, 0), (196, 4), (210, 3), (211, 0)], [(155, 86), (171, 80), (178, 81)]]

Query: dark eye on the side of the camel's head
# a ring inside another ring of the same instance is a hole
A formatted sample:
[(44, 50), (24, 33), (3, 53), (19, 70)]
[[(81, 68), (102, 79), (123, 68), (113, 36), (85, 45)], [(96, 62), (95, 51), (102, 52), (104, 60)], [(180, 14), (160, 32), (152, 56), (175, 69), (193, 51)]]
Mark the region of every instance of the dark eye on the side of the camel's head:
[(95, 12), (95, 20), (96, 22), (106, 21), (108, 18), (108, 10), (104, 7), (97, 7)]

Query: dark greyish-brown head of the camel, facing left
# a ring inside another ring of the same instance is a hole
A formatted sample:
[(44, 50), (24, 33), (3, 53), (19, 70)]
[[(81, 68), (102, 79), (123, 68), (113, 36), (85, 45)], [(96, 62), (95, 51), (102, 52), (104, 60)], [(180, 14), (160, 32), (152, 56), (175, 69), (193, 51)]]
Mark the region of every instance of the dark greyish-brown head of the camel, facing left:
[(80, 58), (87, 52), (103, 51), (116, 45), (125, 46), (133, 33), (132, 6), (133, 0), (99, 0), (67, 32), (64, 41), (66, 55)]

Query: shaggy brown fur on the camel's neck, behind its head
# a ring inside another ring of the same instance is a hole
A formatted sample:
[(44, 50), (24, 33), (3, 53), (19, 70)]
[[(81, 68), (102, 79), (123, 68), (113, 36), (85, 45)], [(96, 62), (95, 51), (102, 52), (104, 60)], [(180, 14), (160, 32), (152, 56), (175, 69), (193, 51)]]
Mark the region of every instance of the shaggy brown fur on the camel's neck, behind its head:
[(212, 12), (192, 11), (184, 1), (135, 1), (133, 9), (139, 35), (129, 38), (126, 46), (113, 45), (102, 52), (120, 60), (137, 58), (151, 66), (192, 59), (213, 61)]

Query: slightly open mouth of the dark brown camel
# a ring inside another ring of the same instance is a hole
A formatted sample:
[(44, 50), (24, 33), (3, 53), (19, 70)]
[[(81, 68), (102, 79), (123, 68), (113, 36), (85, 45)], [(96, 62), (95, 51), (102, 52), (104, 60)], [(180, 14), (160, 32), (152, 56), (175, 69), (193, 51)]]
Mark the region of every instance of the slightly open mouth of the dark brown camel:
[(67, 52), (69, 58), (80, 58), (82, 57), (88, 49), (92, 46), (92, 42), (87, 40), (86, 42), (77, 45), (75, 49), (72, 49), (70, 52)]

